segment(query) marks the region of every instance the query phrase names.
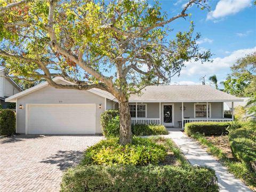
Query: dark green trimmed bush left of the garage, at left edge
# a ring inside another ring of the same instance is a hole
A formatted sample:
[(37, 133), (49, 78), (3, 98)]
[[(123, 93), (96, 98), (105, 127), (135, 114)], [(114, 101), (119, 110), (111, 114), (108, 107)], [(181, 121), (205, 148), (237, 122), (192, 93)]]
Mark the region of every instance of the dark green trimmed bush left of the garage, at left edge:
[(15, 133), (15, 113), (10, 109), (0, 111), (0, 135), (10, 136)]

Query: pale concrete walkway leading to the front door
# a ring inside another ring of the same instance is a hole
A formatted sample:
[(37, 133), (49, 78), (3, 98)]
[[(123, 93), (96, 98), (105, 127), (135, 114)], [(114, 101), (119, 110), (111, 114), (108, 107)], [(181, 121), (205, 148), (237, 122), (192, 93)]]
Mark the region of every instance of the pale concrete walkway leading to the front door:
[(192, 165), (208, 166), (215, 171), (221, 192), (252, 191), (241, 180), (229, 173), (226, 167), (207, 154), (193, 139), (187, 137), (177, 128), (170, 128), (168, 131), (169, 135), (164, 137), (171, 138)]

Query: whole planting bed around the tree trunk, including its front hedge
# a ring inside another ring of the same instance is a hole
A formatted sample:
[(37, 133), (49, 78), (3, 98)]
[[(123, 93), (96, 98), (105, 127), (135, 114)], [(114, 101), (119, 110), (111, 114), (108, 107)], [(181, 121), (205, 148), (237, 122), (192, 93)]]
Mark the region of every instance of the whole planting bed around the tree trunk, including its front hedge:
[(100, 141), (85, 151), (81, 164), (68, 169), (61, 191), (218, 191), (207, 167), (190, 165), (171, 139), (118, 138)]

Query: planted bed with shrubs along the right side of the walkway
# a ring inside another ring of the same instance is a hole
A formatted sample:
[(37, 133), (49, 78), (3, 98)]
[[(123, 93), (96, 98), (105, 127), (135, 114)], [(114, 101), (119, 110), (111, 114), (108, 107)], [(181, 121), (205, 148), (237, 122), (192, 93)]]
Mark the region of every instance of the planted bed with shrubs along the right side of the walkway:
[(235, 177), (256, 191), (256, 171), (252, 166), (256, 157), (255, 133), (255, 123), (245, 123), (241, 129), (229, 135), (205, 136), (197, 133), (191, 137), (199, 141), (208, 153), (217, 157)]

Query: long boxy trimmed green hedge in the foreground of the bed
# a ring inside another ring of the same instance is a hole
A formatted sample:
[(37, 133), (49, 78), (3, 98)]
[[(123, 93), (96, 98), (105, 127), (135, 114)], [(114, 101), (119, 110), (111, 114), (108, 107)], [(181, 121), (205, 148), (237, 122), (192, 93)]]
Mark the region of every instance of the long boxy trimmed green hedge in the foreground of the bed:
[(206, 167), (90, 165), (69, 169), (61, 191), (218, 191), (214, 171)]

